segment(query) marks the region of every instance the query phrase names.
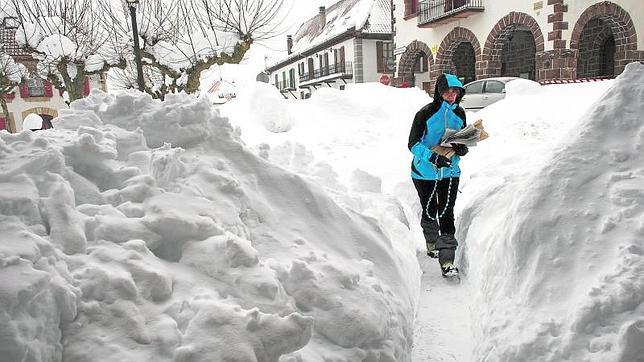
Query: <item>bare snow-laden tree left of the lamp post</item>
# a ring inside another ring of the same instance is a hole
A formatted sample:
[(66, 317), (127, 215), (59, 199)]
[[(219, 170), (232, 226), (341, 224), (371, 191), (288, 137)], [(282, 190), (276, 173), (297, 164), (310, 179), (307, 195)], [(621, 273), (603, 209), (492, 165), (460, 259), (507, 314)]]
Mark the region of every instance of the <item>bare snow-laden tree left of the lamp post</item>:
[(38, 61), (39, 75), (64, 89), (69, 100), (82, 97), (87, 75), (124, 67), (118, 33), (101, 9), (109, 0), (8, 0), (20, 23), (16, 42)]

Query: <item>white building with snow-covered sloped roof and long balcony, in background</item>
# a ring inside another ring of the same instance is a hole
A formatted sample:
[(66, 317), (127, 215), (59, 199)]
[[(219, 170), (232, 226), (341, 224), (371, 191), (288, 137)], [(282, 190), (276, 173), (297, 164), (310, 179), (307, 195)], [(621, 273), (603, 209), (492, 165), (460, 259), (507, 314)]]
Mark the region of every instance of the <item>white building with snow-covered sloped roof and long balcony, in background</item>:
[(394, 75), (391, 0), (340, 0), (287, 36), (288, 55), (266, 73), (284, 97), (320, 87), (388, 83)]

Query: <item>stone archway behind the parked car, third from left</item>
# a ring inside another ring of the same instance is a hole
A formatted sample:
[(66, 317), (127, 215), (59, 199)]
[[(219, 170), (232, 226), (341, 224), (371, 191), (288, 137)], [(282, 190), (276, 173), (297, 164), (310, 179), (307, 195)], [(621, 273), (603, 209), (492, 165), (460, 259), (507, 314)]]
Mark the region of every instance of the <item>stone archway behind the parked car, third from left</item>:
[[(513, 11), (492, 27), (476, 65), (477, 77), (527, 74), (536, 79), (536, 54), (543, 50), (543, 33), (537, 21)], [(510, 52), (515, 55), (509, 57)]]

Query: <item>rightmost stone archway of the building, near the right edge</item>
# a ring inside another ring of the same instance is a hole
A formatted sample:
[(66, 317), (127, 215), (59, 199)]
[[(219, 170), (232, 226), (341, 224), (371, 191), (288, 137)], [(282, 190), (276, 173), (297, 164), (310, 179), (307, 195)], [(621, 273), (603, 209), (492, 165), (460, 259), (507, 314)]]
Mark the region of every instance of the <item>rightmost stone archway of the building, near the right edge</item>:
[(610, 1), (592, 5), (581, 14), (570, 49), (577, 53), (576, 78), (612, 77), (624, 71), (626, 64), (641, 60), (636, 55), (637, 33), (630, 15)]

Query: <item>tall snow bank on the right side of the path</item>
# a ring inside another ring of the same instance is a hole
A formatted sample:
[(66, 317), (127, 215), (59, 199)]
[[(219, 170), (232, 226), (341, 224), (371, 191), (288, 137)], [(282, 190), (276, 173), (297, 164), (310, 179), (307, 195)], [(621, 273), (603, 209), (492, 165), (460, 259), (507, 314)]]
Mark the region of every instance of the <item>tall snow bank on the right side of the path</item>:
[(643, 84), (644, 65), (630, 64), (589, 112), (553, 122), (565, 107), (542, 110), (532, 135), (513, 133), (529, 129), (521, 99), (477, 114), (512, 116), (488, 122), (496, 134), (480, 147), (496, 148), (495, 159), (463, 166), (475, 169), (459, 227), (479, 287), (476, 360), (644, 356)]

